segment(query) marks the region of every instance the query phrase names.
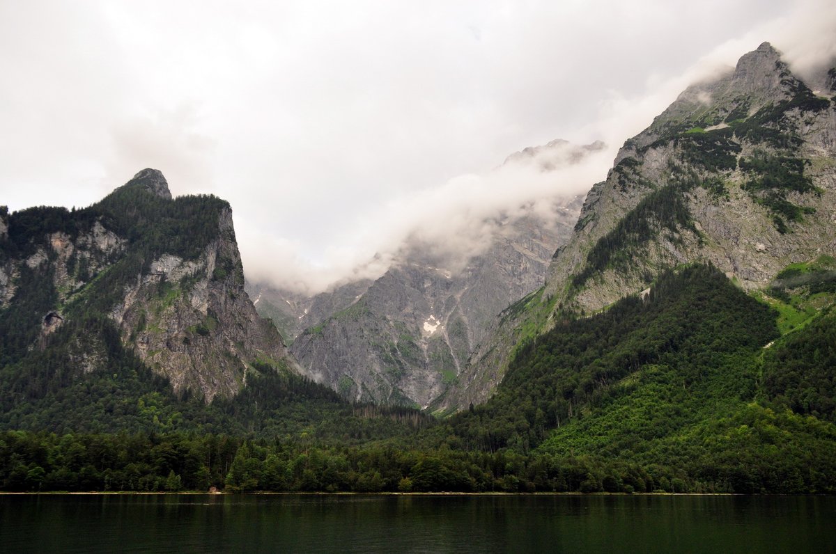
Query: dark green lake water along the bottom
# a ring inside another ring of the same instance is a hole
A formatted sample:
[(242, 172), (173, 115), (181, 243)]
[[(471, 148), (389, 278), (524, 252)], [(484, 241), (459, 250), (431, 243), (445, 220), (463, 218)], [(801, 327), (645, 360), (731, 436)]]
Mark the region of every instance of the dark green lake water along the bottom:
[(0, 496), (0, 551), (829, 552), (836, 498)]

